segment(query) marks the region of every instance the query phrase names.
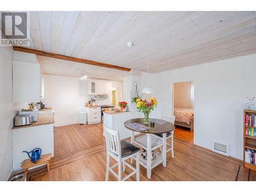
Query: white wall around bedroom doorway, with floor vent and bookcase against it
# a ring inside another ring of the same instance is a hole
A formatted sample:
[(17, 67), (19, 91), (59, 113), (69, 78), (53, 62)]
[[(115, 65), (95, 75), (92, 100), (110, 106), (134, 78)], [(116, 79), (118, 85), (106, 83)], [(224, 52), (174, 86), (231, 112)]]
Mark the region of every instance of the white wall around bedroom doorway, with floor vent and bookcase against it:
[(194, 143), (211, 149), (212, 140), (227, 142), (229, 155), (242, 159), (243, 110), (246, 97), (256, 96), (255, 72), (256, 54), (251, 54), (152, 74), (152, 95), (158, 99), (152, 116), (172, 114), (173, 82), (194, 81)]

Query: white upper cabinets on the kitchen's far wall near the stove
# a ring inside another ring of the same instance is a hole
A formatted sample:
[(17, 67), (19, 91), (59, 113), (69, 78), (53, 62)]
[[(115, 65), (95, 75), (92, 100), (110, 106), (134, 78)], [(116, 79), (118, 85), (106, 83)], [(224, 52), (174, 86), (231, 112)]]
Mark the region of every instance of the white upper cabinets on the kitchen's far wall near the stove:
[(89, 81), (88, 94), (111, 95), (111, 82), (109, 81)]

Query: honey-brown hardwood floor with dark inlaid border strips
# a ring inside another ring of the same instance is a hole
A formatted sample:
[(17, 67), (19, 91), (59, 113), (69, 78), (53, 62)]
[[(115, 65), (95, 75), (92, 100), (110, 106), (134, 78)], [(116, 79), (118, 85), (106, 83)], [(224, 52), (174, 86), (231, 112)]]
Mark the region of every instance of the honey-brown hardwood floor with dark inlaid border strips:
[[(182, 138), (182, 133), (186, 136)], [(211, 152), (191, 143), (193, 133), (177, 129), (174, 139), (174, 159), (167, 155), (167, 166), (158, 165), (152, 170), (150, 181), (255, 181), (256, 172), (244, 168), (241, 161)], [(93, 140), (95, 138), (95, 140)], [(190, 139), (189, 139), (190, 138)], [(55, 128), (55, 157), (51, 170), (33, 169), (31, 181), (103, 181), (106, 154), (102, 124), (68, 125)], [(88, 139), (88, 140), (87, 140)], [(192, 140), (193, 141), (193, 140)], [(71, 146), (68, 146), (71, 145)], [(65, 155), (68, 154), (68, 156)], [(114, 160), (111, 159), (111, 164)], [(117, 168), (117, 167), (116, 167)], [(114, 169), (117, 171), (117, 169)], [(122, 177), (131, 173), (127, 168)], [(110, 181), (116, 178), (110, 173)], [(135, 181), (132, 176), (129, 181)], [(140, 166), (140, 180), (148, 181), (146, 169)]]

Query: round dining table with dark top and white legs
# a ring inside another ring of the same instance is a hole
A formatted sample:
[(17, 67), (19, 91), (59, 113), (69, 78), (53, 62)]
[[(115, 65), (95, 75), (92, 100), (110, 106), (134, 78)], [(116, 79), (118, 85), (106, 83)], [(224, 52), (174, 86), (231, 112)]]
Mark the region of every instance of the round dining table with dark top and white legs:
[[(148, 129), (143, 131), (137, 131), (129, 125), (130, 123), (138, 123), (140, 125), (148, 127)], [(160, 163), (162, 163), (163, 167), (166, 167), (166, 133), (173, 132), (175, 130), (175, 125), (170, 122), (164, 124), (159, 124), (155, 122), (154, 126), (151, 126), (151, 123), (145, 125), (144, 118), (135, 118), (125, 121), (124, 126), (132, 131), (131, 143), (137, 144), (142, 147), (144, 150), (146, 150), (147, 154), (151, 154), (151, 151), (155, 150), (156, 148), (162, 147), (161, 154), (156, 152), (156, 158), (154, 160), (152, 160), (151, 158), (147, 158), (146, 160), (144, 160), (142, 157), (140, 157), (140, 164), (147, 169), (147, 178), (150, 179), (152, 168), (159, 165)], [(141, 133), (142, 136), (136, 137), (135, 139), (135, 132)], [(159, 137), (154, 137), (154, 134), (161, 134), (162, 140), (158, 139)], [(131, 161), (133, 163), (133, 159), (131, 159)]]

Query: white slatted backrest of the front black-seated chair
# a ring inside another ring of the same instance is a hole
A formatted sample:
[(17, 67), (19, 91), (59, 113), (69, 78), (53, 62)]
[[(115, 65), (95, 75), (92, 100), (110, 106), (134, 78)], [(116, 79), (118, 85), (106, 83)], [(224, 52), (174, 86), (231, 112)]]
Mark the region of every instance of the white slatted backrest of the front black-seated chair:
[(104, 125), (104, 136), (106, 140), (106, 150), (117, 156), (121, 155), (121, 143), (118, 131), (114, 131)]

